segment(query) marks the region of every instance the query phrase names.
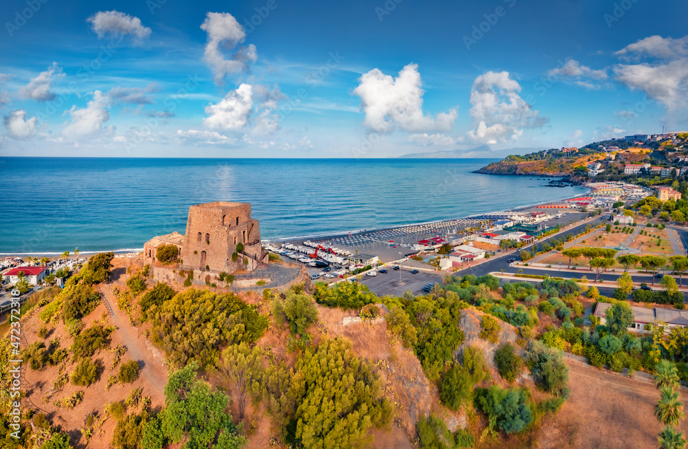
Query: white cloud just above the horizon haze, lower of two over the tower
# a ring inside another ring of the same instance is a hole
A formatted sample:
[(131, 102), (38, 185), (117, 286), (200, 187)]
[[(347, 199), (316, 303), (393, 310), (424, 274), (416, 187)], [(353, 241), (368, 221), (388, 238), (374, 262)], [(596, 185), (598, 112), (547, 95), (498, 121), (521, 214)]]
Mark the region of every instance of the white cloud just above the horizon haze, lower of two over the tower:
[(206, 107), (209, 117), (203, 119), (206, 127), (219, 131), (237, 130), (246, 127), (253, 109), (253, 89), (251, 85), (241, 84), (239, 88), (213, 105)]

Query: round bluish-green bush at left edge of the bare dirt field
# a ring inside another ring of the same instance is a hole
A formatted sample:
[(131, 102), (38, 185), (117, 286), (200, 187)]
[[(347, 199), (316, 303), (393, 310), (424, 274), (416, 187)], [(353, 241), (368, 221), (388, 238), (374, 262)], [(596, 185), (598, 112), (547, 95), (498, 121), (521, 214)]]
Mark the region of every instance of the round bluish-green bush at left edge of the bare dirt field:
[(523, 390), (504, 390), (497, 385), (477, 388), (475, 408), (488, 415), (490, 422), (506, 433), (520, 432), (533, 422), (533, 413)]

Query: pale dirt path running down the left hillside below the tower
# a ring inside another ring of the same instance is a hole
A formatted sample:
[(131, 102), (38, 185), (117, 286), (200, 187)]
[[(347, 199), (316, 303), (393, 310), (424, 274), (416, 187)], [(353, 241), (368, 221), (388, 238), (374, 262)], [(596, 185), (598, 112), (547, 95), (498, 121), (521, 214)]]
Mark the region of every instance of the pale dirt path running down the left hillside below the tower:
[[(167, 370), (164, 366), (164, 353), (153, 347), (153, 344), (140, 334), (138, 328), (133, 327), (129, 317), (117, 307), (117, 298), (112, 292), (112, 285), (101, 285), (100, 292), (110, 305), (112, 316), (110, 319), (117, 327), (113, 340), (121, 340), (127, 347), (127, 355), (131, 360), (137, 360), (142, 366), (140, 375), (146, 378), (157, 393), (164, 393), (167, 384)], [(115, 343), (115, 342), (114, 342)]]

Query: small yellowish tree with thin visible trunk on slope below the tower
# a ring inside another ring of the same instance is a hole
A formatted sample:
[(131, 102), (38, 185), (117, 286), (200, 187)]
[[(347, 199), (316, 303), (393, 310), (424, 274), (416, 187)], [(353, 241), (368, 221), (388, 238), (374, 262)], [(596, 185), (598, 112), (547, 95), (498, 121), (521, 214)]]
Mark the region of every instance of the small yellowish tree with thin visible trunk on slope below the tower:
[(217, 362), (217, 377), (237, 392), (239, 419), (244, 419), (249, 393), (258, 389), (264, 371), (263, 359), (264, 351), (261, 348), (251, 349), (241, 342), (222, 351), (222, 360)]

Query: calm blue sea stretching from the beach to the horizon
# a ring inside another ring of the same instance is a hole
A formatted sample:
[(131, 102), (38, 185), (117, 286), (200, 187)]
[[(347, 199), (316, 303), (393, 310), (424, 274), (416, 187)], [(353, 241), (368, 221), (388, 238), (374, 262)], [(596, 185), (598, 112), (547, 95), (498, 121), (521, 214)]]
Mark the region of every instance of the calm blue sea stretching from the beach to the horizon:
[(581, 186), (471, 173), (493, 162), (0, 157), (0, 254), (137, 251), (192, 204), (252, 206), (281, 241), (455, 219), (574, 197)]

